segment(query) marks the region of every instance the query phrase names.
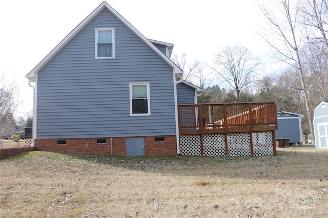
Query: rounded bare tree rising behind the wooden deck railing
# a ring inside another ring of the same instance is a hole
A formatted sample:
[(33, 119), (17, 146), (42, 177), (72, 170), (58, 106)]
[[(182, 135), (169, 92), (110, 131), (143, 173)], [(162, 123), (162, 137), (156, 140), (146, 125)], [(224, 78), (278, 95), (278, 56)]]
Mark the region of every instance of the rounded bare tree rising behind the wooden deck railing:
[(244, 46), (222, 47), (215, 56), (216, 64), (212, 68), (236, 92), (236, 101), (240, 101), (240, 92), (253, 83), (254, 76), (260, 62)]

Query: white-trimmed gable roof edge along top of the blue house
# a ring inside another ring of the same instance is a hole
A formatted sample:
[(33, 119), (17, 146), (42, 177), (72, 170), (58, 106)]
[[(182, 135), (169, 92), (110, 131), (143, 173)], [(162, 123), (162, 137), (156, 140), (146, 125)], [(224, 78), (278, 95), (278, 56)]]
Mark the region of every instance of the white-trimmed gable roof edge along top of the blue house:
[[(117, 11), (115, 11), (107, 2), (101, 3), (89, 16), (87, 16), (79, 25), (74, 28), (59, 44), (54, 47), (54, 49), (42, 60), (40, 61), (25, 77), (28, 78), (30, 81), (35, 81), (37, 72), (42, 69), (48, 61), (51, 60), (63, 47), (74, 37), (78, 34), (84, 27), (88, 25), (88, 23), (97, 16), (103, 9), (109, 10), (114, 16), (117, 17), (126, 27), (128, 27), (134, 34), (136, 34), (142, 41), (144, 41), (151, 49), (159, 55), (165, 62), (167, 62), (174, 70), (176, 74), (182, 74), (183, 71), (165, 54), (157, 49), (157, 47), (144, 35), (142, 35), (137, 29), (135, 29), (131, 23), (129, 23), (124, 17), (122, 17)], [(152, 40), (155, 41), (155, 40)], [(159, 42), (159, 41), (156, 41)], [(163, 42), (161, 42), (163, 43)], [(165, 43), (171, 45), (173, 48), (173, 44)]]

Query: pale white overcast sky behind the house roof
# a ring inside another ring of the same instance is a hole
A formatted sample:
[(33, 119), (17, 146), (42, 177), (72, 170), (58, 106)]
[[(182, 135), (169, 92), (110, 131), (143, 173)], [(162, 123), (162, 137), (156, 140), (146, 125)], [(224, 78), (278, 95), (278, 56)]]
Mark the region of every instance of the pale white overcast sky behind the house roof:
[[(19, 83), (16, 116), (31, 114), (33, 89), (24, 77), (102, 0), (0, 2), (0, 74)], [(108, 0), (146, 38), (174, 44), (188, 61), (213, 63), (220, 46), (242, 44), (267, 57), (258, 36), (257, 0)], [(263, 69), (266, 71), (267, 69)], [(267, 73), (267, 72), (264, 72)], [(0, 81), (1, 83), (1, 81)]]

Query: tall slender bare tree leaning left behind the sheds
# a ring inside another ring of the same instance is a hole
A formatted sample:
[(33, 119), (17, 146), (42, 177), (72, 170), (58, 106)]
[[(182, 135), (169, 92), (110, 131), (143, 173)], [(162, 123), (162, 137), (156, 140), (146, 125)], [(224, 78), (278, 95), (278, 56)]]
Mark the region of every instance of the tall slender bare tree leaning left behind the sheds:
[[(302, 39), (302, 27), (299, 25), (299, 4), (294, 7), (290, 5), (289, 0), (279, 0), (274, 5), (274, 9), (264, 4), (260, 4), (264, 17), (269, 21), (270, 30), (260, 34), (262, 38), (268, 42), (276, 51), (275, 58), (290, 64), (297, 69), (301, 91), (304, 96), (306, 112), (309, 117), (309, 126), (311, 134), (314, 135), (312, 126), (312, 113), (309, 105), (308, 86), (305, 84), (304, 72), (300, 57), (300, 45)], [(274, 36), (274, 38), (270, 38)], [(276, 43), (276, 42), (282, 43)]]

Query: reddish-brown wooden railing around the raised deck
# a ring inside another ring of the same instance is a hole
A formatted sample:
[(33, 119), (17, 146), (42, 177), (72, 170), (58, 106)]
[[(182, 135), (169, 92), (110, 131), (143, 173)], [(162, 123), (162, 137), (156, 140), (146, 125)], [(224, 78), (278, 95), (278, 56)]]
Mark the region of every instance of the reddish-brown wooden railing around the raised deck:
[(181, 134), (274, 131), (275, 102), (178, 105)]

